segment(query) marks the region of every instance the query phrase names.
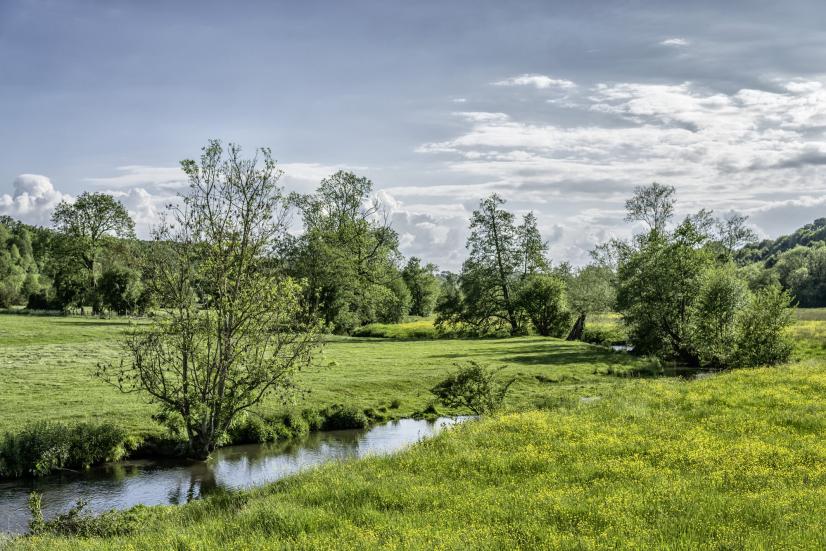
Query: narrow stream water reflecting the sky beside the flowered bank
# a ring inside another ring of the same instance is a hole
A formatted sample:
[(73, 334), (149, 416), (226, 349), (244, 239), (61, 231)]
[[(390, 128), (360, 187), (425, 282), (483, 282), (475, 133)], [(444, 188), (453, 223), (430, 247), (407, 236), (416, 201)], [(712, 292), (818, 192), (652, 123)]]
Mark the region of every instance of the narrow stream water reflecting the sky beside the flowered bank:
[(122, 461), (83, 473), (0, 482), (0, 531), (27, 530), (32, 490), (43, 495), (47, 519), (67, 511), (78, 499), (86, 500), (94, 513), (139, 504), (181, 504), (218, 488), (261, 486), (327, 461), (391, 453), (466, 419), (402, 419), (366, 430), (312, 433), (290, 442), (229, 446), (209, 461)]

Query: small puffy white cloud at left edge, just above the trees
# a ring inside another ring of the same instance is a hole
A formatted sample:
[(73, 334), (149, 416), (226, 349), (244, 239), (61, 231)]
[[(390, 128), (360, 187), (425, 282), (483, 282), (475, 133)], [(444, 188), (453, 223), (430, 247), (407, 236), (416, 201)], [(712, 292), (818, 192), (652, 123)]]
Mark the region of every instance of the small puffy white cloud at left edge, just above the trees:
[(0, 214), (28, 224), (48, 225), (58, 203), (72, 200), (70, 195), (57, 191), (47, 176), (40, 174), (21, 174), (14, 179), (12, 187), (11, 195), (0, 195)]

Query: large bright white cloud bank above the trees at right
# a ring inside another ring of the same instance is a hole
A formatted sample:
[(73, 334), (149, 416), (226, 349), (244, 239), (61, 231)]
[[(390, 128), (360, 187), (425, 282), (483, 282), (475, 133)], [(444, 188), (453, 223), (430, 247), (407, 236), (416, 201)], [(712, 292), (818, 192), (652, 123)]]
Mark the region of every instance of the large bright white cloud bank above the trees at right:
[(735, 209), (774, 231), (772, 217), (799, 212), (799, 226), (822, 203), (789, 201), (826, 194), (826, 87), (789, 80), (771, 88), (603, 83), (572, 92), (567, 108), (588, 121), (578, 125), (526, 116), (523, 108), (519, 116), (458, 113), (463, 131), (417, 151), (442, 154), (450, 173), (475, 183), (392, 192), (403, 201), (418, 193), (430, 203), (473, 205), (496, 191), (515, 210), (536, 209), (546, 235), (558, 235), (554, 254), (574, 261), (587, 260), (587, 249), (606, 236), (628, 232), (624, 199), (634, 185), (655, 180), (677, 186), (681, 214)]

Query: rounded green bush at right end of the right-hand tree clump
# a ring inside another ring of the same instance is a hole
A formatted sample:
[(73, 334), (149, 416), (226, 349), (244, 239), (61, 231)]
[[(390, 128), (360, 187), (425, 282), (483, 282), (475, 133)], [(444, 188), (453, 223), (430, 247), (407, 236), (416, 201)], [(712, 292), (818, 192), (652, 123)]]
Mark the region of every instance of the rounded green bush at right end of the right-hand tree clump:
[(791, 296), (774, 285), (757, 291), (738, 316), (737, 365), (757, 367), (788, 361), (792, 343)]

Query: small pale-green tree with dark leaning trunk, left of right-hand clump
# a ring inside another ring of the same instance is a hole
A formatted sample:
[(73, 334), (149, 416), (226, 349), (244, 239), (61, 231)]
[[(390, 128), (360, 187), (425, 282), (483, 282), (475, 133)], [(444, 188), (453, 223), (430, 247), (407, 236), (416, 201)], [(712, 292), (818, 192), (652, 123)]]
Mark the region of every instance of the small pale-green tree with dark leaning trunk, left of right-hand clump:
[(577, 316), (567, 340), (580, 340), (592, 312), (612, 310), (616, 301), (615, 274), (605, 265), (590, 264), (567, 278), (568, 302)]

